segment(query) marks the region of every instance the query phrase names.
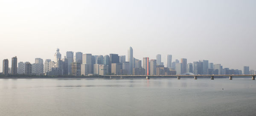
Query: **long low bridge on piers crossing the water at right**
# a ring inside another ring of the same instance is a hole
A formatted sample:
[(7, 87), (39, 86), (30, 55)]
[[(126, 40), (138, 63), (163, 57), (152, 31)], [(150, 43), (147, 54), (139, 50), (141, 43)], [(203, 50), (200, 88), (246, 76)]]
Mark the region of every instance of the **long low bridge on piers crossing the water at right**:
[(233, 77), (252, 77), (252, 80), (255, 80), (256, 75), (104, 75), (104, 77), (109, 78), (173, 78), (177, 77), (177, 79), (180, 79), (181, 77), (193, 77), (194, 79), (197, 79), (198, 77), (208, 77), (211, 78), (211, 80), (214, 79), (214, 77), (229, 77), (230, 80), (233, 79)]

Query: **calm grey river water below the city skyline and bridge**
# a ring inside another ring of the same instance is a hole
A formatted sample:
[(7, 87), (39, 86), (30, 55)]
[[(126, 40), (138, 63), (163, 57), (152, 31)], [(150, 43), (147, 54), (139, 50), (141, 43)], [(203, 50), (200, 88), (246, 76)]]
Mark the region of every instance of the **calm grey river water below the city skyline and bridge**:
[(251, 78), (0, 79), (0, 116), (255, 116)]

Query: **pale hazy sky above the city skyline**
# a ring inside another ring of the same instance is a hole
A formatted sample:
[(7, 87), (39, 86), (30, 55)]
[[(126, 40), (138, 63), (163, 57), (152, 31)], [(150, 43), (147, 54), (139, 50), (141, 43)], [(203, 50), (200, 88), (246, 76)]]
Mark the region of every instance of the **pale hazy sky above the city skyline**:
[[(0, 0), (3, 59), (53, 60), (56, 48), (256, 70), (256, 0)], [(126, 58), (127, 60), (127, 58)]]

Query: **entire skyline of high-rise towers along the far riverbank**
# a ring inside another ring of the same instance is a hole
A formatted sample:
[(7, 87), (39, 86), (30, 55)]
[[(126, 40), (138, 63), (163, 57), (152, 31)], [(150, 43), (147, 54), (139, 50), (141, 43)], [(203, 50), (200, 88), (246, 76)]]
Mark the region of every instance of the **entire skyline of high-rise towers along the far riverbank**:
[[(172, 55), (167, 55), (167, 67), (161, 61), (161, 55), (156, 59), (143, 58), (143, 61), (134, 58), (133, 49), (128, 49), (128, 58), (125, 55), (92, 55), (82, 52), (67, 51), (61, 58), (60, 49), (54, 55), (54, 61), (35, 58), (35, 63), (19, 62), (17, 57), (12, 58), (12, 67), (9, 68), (8, 59), (3, 60), (3, 75), (241, 75), (241, 70), (223, 68), (221, 64), (209, 63), (208, 60), (199, 60), (187, 63), (186, 58), (172, 62)], [(254, 70), (244, 67), (245, 75), (254, 75)]]

